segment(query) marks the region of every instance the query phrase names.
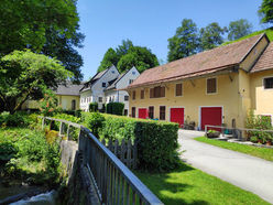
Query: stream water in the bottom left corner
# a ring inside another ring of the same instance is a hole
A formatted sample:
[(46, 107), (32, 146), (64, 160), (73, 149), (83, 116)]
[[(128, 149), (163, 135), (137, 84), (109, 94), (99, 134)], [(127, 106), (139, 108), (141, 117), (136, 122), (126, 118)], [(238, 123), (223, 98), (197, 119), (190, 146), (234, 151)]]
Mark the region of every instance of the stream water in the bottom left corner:
[(39, 194), (36, 196), (32, 196), (26, 199), (21, 199), (11, 205), (55, 205), (56, 204), (57, 193), (56, 191), (46, 192), (43, 194)]

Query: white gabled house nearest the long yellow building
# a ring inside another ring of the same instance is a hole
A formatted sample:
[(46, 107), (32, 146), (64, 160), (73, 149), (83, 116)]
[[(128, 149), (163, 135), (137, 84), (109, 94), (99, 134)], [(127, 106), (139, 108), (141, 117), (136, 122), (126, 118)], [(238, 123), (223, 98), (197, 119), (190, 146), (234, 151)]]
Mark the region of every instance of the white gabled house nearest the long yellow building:
[(109, 84), (109, 86), (105, 89), (106, 102), (116, 101), (124, 104), (124, 116), (128, 116), (129, 110), (129, 94), (125, 90), (121, 90), (128, 87), (136, 77), (139, 77), (140, 73), (135, 67), (124, 72), (121, 74), (114, 82)]

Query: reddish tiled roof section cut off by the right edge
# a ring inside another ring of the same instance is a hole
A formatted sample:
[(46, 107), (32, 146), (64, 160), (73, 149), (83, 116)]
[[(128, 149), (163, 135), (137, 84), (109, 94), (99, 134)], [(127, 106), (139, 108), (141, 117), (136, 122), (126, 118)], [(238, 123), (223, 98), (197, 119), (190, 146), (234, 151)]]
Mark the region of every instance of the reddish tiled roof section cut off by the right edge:
[(273, 69), (273, 42), (267, 45), (250, 73)]

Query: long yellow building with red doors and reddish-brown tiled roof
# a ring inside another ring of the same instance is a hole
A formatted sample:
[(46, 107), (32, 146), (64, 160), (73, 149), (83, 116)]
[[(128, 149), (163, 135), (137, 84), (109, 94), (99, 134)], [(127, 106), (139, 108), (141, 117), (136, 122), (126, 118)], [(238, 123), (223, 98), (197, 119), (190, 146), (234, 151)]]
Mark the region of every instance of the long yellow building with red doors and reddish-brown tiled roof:
[(131, 117), (242, 128), (249, 109), (273, 115), (273, 43), (261, 34), (146, 69), (127, 90)]

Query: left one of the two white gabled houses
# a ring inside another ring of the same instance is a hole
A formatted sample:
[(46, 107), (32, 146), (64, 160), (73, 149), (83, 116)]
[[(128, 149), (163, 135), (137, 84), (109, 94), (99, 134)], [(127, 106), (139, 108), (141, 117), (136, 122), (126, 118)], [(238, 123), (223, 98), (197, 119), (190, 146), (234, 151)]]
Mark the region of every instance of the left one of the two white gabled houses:
[(106, 102), (105, 89), (120, 76), (114, 66), (109, 67), (103, 72), (97, 73), (90, 80), (85, 83), (80, 89), (79, 108), (88, 111), (90, 102), (98, 102), (99, 109)]

